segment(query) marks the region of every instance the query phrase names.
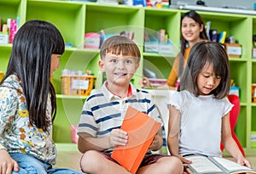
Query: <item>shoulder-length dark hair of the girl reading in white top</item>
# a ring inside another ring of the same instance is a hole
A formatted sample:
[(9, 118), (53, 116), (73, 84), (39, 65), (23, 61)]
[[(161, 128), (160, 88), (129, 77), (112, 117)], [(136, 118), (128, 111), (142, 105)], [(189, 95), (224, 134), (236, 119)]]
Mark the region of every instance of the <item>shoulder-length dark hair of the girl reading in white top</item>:
[(188, 64), (183, 72), (178, 91), (187, 90), (200, 94), (197, 86), (197, 77), (205, 65), (212, 65), (215, 76), (221, 81), (210, 94), (214, 98), (224, 98), (230, 92), (230, 64), (229, 58), (222, 44), (218, 42), (197, 42), (191, 48)]

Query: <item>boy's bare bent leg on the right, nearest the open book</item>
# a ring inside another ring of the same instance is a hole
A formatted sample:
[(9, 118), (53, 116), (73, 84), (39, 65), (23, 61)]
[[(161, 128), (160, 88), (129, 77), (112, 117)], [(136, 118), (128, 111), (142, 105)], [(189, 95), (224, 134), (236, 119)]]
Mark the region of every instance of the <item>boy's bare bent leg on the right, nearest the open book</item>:
[(166, 156), (157, 160), (154, 164), (139, 168), (137, 174), (182, 174), (183, 163), (174, 156)]

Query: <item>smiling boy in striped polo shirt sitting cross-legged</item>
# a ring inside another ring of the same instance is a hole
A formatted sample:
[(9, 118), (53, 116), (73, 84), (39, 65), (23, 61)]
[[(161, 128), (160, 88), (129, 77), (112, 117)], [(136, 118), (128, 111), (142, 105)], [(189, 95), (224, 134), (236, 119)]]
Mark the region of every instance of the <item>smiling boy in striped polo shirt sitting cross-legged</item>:
[[(162, 123), (151, 95), (131, 84), (140, 63), (137, 44), (125, 36), (112, 36), (103, 42), (99, 66), (107, 81), (91, 92), (86, 99), (79, 122), (79, 151), (84, 153), (82, 171), (93, 174), (128, 174), (111, 158), (113, 148), (129, 141), (127, 132), (120, 129), (129, 105)], [(161, 129), (160, 129), (161, 130)], [(163, 140), (156, 134), (138, 174), (183, 172), (183, 164), (174, 156), (151, 154), (159, 150)]]

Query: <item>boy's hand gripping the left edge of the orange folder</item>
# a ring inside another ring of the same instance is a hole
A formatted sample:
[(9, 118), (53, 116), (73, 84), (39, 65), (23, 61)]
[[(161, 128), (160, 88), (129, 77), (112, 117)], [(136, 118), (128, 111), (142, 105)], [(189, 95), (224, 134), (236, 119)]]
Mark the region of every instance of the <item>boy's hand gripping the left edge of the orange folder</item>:
[(110, 148), (115, 148), (116, 146), (124, 146), (128, 141), (127, 132), (121, 129), (113, 129), (109, 135), (109, 145)]

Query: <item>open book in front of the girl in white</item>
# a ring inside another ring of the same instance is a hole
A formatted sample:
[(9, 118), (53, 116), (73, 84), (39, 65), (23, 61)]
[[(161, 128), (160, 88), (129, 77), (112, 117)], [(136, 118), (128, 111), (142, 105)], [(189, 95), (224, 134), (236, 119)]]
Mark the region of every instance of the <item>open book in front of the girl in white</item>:
[(236, 162), (220, 157), (206, 157), (206, 156), (186, 156), (192, 163), (188, 164), (187, 171), (191, 174), (204, 173), (256, 173), (253, 169), (247, 166), (241, 166)]

